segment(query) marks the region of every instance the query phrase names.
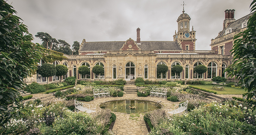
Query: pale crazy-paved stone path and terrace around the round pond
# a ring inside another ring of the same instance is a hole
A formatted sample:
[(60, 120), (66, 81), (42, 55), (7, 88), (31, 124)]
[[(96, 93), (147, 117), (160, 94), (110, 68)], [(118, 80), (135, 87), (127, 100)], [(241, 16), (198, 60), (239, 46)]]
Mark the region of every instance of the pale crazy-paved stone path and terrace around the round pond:
[[(123, 97), (106, 97), (106, 98), (96, 98), (86, 104), (90, 104), (91, 108), (99, 109), (99, 105), (103, 102), (113, 101), (113, 100), (145, 100), (145, 101), (161, 101), (160, 104), (162, 108), (173, 109), (174, 105), (179, 104), (180, 102), (171, 102), (166, 98), (159, 97), (138, 97), (137, 94), (124, 94)], [(115, 135), (146, 135), (148, 134), (147, 127), (143, 120), (144, 114), (125, 114), (114, 112), (116, 114), (115, 125), (112, 129), (112, 132)]]

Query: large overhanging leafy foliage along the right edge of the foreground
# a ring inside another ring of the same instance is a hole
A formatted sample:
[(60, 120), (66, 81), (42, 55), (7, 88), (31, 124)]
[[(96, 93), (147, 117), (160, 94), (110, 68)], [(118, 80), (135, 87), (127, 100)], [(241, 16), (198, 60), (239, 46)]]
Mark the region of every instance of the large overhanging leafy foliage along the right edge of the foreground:
[[(256, 0), (250, 4), (251, 12), (256, 10)], [(233, 71), (229, 76), (236, 75), (240, 84), (245, 84), (246, 93), (243, 94), (250, 104), (256, 108), (256, 14), (247, 21), (247, 29), (234, 36)]]

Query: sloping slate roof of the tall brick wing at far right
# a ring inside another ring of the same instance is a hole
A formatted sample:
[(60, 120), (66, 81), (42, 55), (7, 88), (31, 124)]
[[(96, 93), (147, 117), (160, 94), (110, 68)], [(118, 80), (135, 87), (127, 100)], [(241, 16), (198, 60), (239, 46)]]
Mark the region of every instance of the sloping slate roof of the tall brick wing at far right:
[[(217, 36), (216, 38), (219, 38), (221, 36), (224, 36), (225, 35), (225, 31), (228, 29), (228, 28), (236, 28), (234, 30), (232, 30), (232, 33), (235, 32), (235, 31), (238, 31), (238, 30), (241, 30), (242, 29), (242, 23), (246, 22), (249, 20), (249, 17), (252, 16), (253, 13), (250, 13), (236, 21), (233, 21), (232, 23), (229, 24), (229, 26), (227, 26), (226, 29), (222, 30), (220, 33), (219, 36)], [(216, 39), (215, 38), (215, 39)]]

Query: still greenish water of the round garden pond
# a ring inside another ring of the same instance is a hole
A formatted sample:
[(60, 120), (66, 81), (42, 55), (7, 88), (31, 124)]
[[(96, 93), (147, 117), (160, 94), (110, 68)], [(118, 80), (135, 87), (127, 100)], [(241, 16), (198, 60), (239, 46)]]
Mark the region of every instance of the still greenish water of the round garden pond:
[(99, 107), (109, 108), (112, 112), (133, 114), (153, 111), (155, 109), (160, 109), (162, 106), (156, 102), (143, 100), (118, 100), (102, 103)]

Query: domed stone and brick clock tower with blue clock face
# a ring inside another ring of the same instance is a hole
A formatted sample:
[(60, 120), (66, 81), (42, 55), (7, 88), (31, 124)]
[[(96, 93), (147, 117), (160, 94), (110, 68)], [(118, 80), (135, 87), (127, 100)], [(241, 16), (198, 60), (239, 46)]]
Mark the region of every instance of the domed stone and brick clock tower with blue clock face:
[(178, 32), (173, 36), (173, 40), (177, 41), (180, 45), (182, 50), (195, 50), (196, 49), (196, 31), (192, 26), (192, 31), (190, 31), (190, 16), (184, 13), (183, 7), (183, 14), (181, 14), (178, 19)]

